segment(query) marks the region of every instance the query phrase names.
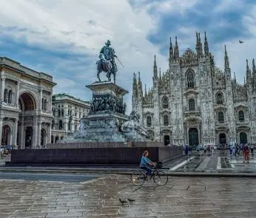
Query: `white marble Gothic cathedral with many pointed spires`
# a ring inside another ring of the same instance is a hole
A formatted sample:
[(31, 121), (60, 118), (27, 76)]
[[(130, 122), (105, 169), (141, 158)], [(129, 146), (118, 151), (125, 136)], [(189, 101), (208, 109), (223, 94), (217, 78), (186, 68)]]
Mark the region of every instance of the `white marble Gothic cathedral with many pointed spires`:
[(246, 60), (246, 79), (232, 78), (225, 46), (225, 69), (215, 67), (206, 38), (196, 33), (196, 52), (179, 55), (177, 37), (169, 47), (169, 69), (161, 75), (156, 61), (153, 87), (143, 93), (134, 75), (132, 108), (154, 140), (165, 144), (256, 143), (256, 68)]

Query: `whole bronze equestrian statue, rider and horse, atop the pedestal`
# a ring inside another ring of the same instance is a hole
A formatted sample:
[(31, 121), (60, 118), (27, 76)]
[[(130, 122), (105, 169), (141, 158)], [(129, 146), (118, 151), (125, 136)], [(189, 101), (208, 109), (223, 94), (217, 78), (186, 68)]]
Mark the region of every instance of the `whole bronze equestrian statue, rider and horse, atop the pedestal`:
[(118, 59), (118, 57), (115, 55), (115, 50), (110, 47), (110, 40), (107, 40), (105, 44), (106, 45), (101, 48), (100, 54), (98, 55), (99, 60), (96, 62), (98, 81), (101, 81), (101, 78), (99, 77), (100, 73), (107, 72), (106, 76), (108, 80), (111, 81), (111, 75), (113, 75), (115, 83), (115, 75), (118, 71), (118, 67), (115, 64), (115, 58)]

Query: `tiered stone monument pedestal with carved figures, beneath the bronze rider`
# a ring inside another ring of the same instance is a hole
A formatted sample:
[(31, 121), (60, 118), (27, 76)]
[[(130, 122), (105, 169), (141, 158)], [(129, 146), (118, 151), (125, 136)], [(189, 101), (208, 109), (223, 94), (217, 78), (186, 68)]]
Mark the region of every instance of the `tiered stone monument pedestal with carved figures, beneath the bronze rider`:
[(92, 90), (90, 113), (81, 118), (80, 127), (61, 143), (146, 141), (146, 129), (138, 124), (139, 115), (125, 115), (123, 97), (127, 90), (111, 81), (95, 82)]

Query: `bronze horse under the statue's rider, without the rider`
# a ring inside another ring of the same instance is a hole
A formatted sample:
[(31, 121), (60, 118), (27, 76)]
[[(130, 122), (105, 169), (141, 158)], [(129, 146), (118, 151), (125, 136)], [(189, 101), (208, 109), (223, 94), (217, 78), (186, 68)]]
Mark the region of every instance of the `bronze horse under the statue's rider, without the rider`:
[(104, 54), (100, 54), (99, 55), (99, 60), (96, 62), (97, 64), (97, 77), (98, 77), (98, 81), (101, 82), (101, 78), (100, 78), (100, 73), (101, 72), (107, 72), (107, 78), (109, 81), (111, 81), (111, 75), (114, 76), (114, 84), (115, 84), (115, 68), (113, 67), (113, 64), (111, 61), (106, 60), (106, 58), (104, 57)]

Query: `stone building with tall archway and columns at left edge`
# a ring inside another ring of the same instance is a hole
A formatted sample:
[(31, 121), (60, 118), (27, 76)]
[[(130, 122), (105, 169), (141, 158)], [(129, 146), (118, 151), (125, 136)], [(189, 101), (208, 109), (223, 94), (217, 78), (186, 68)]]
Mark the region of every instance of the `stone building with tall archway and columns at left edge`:
[(0, 142), (19, 149), (50, 143), (53, 77), (0, 57)]

